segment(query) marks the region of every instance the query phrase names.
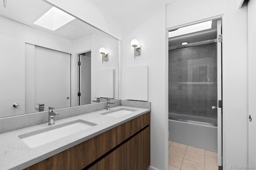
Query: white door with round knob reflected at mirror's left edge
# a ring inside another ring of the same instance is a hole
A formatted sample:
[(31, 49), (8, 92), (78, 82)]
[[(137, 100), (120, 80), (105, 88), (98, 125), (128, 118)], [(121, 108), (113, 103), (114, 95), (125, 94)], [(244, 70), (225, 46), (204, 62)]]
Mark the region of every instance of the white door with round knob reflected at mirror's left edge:
[[(0, 117), (25, 113), (25, 43), (0, 35)], [(19, 107), (13, 107), (18, 103)]]

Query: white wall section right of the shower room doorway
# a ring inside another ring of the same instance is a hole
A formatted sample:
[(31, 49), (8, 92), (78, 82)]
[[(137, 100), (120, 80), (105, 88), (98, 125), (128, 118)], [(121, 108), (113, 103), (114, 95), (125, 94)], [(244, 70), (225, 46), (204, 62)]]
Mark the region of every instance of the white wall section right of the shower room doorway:
[(238, 9), (236, 1), (225, 0), (223, 19), (223, 162), (225, 170), (230, 169), (230, 164), (248, 164), (247, 25), (247, 6)]

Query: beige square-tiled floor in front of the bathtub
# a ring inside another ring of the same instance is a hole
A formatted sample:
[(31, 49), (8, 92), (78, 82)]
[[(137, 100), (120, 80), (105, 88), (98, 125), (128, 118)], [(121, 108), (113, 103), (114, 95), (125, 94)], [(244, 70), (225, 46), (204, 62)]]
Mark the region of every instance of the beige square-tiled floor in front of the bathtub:
[(218, 170), (217, 153), (169, 141), (169, 170)]

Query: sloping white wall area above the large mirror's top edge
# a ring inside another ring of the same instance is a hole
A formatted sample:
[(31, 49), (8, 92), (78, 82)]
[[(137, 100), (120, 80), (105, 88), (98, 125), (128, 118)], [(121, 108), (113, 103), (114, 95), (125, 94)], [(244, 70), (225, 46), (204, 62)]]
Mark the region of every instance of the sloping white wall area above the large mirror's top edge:
[(94, 0), (72, 0), (72, 2), (63, 0), (47, 1), (117, 39), (121, 39), (120, 22), (108, 14), (108, 8), (99, 8)]

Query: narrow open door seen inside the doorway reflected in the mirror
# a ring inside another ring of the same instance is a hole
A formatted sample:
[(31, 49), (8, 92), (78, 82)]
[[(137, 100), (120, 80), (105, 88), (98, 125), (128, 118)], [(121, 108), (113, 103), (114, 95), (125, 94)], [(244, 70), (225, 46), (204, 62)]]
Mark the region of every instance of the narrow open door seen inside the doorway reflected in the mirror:
[(91, 55), (80, 55), (80, 105), (91, 104)]

